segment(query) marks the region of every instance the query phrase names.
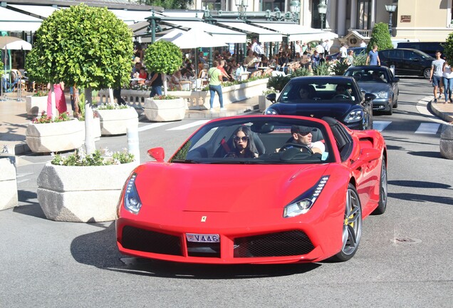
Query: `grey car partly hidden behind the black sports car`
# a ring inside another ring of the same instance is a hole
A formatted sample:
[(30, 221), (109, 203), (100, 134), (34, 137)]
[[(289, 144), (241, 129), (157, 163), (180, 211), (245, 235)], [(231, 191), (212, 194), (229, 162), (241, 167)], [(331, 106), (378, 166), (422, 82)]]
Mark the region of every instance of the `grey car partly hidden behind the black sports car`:
[(373, 93), (373, 111), (382, 111), (392, 115), (393, 108), (398, 107), (398, 81), (387, 66), (351, 66), (345, 76), (353, 76), (361, 91)]

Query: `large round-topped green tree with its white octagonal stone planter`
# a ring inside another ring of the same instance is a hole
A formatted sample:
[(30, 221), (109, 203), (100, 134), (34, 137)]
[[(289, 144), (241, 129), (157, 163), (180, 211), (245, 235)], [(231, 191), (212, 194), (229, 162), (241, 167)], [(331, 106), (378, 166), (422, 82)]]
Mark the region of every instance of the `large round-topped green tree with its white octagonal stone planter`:
[(27, 56), (31, 78), (80, 86), (86, 98), (85, 150), (54, 159), (38, 176), (38, 201), (49, 219), (95, 222), (115, 218), (121, 187), (137, 162), (124, 154), (125, 160), (113, 158), (120, 165), (106, 165), (95, 150), (92, 90), (127, 83), (131, 57), (130, 30), (106, 8), (80, 4), (54, 11), (36, 31), (36, 46)]

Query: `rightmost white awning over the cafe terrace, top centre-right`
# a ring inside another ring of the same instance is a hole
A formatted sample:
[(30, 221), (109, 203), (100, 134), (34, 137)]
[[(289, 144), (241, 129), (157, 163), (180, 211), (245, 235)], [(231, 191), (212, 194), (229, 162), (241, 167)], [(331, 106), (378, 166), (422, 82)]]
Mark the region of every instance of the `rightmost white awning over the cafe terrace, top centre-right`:
[(320, 29), (313, 29), (298, 24), (278, 24), (278, 23), (253, 23), (261, 28), (271, 29), (283, 35), (288, 36), (288, 41), (301, 41), (308, 43), (310, 41), (321, 41), (326, 39), (338, 38), (338, 34)]

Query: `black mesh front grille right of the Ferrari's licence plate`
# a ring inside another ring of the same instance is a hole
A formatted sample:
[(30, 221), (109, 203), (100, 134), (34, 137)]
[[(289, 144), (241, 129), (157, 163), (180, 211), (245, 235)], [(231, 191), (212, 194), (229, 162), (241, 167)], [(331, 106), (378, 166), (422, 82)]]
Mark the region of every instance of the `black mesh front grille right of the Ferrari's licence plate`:
[(284, 257), (306, 255), (314, 249), (308, 236), (298, 230), (238, 237), (234, 257)]

